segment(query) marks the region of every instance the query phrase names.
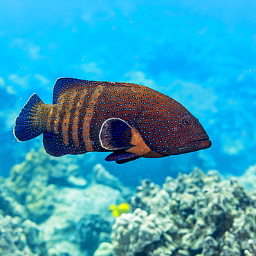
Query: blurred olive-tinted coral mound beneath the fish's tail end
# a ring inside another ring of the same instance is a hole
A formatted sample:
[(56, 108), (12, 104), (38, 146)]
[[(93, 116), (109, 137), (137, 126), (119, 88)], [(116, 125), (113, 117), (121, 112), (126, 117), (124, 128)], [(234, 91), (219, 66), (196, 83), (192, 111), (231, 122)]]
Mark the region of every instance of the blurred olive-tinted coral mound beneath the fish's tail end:
[[(79, 175), (77, 165), (48, 156), (44, 149), (31, 150), (24, 162), (12, 167), (6, 185), (15, 191), (17, 201), (26, 205), (28, 218), (42, 223), (55, 209), (57, 185), (85, 187), (86, 180)], [(75, 183), (71, 182), (72, 177)]]

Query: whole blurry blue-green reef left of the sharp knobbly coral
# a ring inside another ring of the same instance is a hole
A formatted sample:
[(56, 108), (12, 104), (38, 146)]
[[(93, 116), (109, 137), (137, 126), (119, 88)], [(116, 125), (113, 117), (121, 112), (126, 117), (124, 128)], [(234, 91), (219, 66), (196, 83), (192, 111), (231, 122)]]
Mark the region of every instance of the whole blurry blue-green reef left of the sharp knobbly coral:
[(129, 194), (102, 165), (85, 179), (69, 158), (32, 150), (12, 167), (8, 179), (0, 180), (0, 214), (20, 219), (20, 232), (30, 237), (24, 255), (39, 255), (39, 242), (33, 237), (38, 233), (44, 241), (43, 255), (92, 256), (100, 243), (110, 241), (114, 217), (109, 206), (126, 201), (122, 195)]

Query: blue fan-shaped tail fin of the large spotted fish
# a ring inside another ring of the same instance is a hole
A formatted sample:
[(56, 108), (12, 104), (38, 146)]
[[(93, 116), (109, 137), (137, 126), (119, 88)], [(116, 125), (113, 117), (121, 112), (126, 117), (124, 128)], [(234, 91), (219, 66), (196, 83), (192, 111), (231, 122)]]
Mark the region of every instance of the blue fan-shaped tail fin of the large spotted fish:
[(33, 94), (15, 120), (14, 135), (19, 141), (35, 138), (45, 131), (42, 118), (42, 100)]

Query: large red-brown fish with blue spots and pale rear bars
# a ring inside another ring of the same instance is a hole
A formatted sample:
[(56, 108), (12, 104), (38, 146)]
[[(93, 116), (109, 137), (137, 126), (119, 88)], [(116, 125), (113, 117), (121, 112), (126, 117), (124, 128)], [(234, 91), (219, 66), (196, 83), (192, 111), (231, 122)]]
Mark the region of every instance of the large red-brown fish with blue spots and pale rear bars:
[(147, 86), (63, 77), (53, 104), (33, 94), (15, 120), (14, 135), (26, 141), (43, 134), (51, 156), (110, 152), (118, 164), (209, 148), (205, 129), (188, 109)]

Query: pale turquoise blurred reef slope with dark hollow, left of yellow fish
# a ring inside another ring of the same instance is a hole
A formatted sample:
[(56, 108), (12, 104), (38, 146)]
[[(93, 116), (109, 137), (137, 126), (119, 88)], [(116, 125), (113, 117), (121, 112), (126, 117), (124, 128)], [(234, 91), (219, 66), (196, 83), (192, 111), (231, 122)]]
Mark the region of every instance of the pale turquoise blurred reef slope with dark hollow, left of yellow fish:
[(50, 252), (81, 255), (110, 241), (114, 219), (109, 205), (123, 200), (118, 190), (95, 184), (84, 190), (63, 188), (57, 197), (53, 214), (40, 225)]

